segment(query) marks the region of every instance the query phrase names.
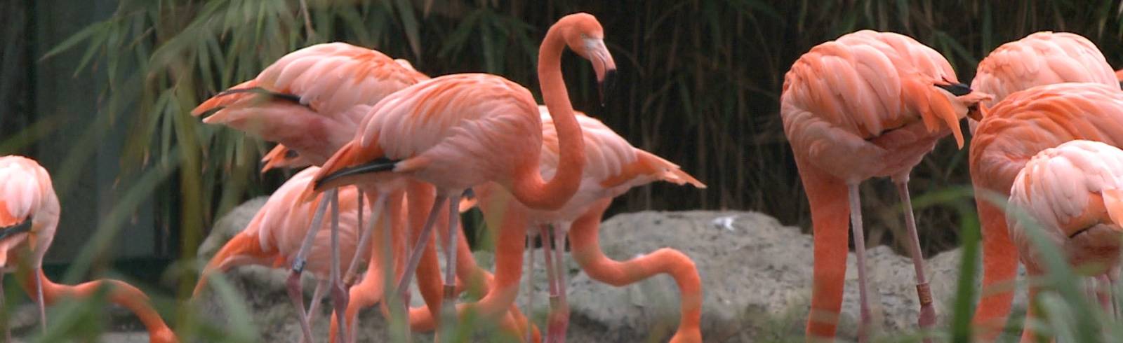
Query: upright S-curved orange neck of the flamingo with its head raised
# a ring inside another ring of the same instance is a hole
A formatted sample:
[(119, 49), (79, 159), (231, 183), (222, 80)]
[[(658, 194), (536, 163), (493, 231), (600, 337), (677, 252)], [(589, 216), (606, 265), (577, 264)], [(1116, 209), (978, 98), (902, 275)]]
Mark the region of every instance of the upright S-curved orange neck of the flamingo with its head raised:
[(540, 210), (560, 208), (581, 186), (581, 175), (585, 167), (585, 145), (582, 139), (581, 126), (573, 114), (569, 93), (562, 78), (562, 50), (565, 39), (562, 31), (567, 27), (557, 24), (546, 33), (538, 49), (538, 83), (542, 89), (542, 100), (549, 109), (550, 117), (558, 133), (558, 169), (549, 182), (542, 180), (538, 169), (538, 159), (520, 168), (515, 180), (514, 196), (523, 205)]

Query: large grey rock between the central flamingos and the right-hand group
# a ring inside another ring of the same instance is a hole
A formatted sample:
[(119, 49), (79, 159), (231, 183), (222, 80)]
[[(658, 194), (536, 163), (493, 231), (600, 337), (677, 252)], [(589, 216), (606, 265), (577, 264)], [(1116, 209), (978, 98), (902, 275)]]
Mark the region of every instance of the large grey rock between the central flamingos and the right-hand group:
[[(614, 259), (665, 247), (690, 256), (703, 282), (706, 341), (802, 341), (811, 298), (812, 237), (797, 228), (749, 212), (640, 212), (608, 220), (600, 237), (605, 254)], [(887, 334), (913, 332), (920, 305), (911, 259), (884, 245), (868, 249), (866, 256), (875, 323)], [(939, 325), (950, 321), (959, 256), (958, 249), (947, 251), (925, 263)], [(847, 340), (857, 339), (856, 260), (851, 252), (838, 332)], [(568, 334), (575, 342), (665, 341), (678, 322), (678, 294), (669, 276), (617, 288), (577, 272), (568, 297)], [(1015, 312), (1024, 308), (1024, 295), (1017, 298)]]

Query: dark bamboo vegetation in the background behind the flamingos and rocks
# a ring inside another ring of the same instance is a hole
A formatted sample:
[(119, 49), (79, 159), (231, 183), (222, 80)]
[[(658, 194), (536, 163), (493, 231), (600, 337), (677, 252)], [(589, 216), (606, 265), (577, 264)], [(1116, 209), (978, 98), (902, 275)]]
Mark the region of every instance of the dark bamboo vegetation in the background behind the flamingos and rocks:
[[(257, 173), (270, 143), (204, 126), (188, 111), (314, 43), (375, 48), (432, 76), (494, 73), (537, 93), (535, 62), (546, 29), (566, 13), (593, 13), (620, 80), (602, 108), (592, 69), (567, 55), (574, 106), (710, 186), (641, 187), (619, 198), (612, 212), (751, 210), (801, 228), (810, 225), (809, 211), (778, 99), (784, 73), (812, 46), (862, 28), (897, 31), (942, 53), (966, 83), (997, 45), (1063, 30), (1088, 37), (1110, 63), (1123, 64), (1119, 1), (308, 6), (314, 36), (305, 35), (295, 0), (0, 2), (0, 154), (35, 157), (55, 178), (64, 217), (58, 234), (66, 237), (56, 239), (52, 261), (79, 261), (67, 274), (79, 278), (91, 266), (106, 267), (93, 258), (124, 256), (138, 263), (131, 267), (190, 258), (217, 217), (271, 193), (290, 173)], [(914, 170), (913, 193), (969, 184), (966, 157), (966, 148), (941, 142)], [(862, 191), (870, 240), (900, 250), (907, 235), (891, 184), (875, 180)], [(917, 208), (929, 253), (957, 244), (956, 213), (940, 205)], [(162, 269), (131, 267), (125, 271), (143, 278)]]

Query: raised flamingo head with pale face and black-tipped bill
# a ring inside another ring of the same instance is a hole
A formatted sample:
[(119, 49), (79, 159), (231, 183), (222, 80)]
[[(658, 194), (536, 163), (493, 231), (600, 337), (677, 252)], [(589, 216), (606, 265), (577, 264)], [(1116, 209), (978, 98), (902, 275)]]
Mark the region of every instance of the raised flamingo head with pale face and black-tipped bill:
[(604, 28), (601, 27), (596, 17), (590, 13), (565, 16), (558, 20), (557, 25), (563, 28), (566, 45), (593, 64), (603, 105), (604, 94), (612, 89), (617, 72), (617, 63), (612, 59), (609, 47), (604, 45)]

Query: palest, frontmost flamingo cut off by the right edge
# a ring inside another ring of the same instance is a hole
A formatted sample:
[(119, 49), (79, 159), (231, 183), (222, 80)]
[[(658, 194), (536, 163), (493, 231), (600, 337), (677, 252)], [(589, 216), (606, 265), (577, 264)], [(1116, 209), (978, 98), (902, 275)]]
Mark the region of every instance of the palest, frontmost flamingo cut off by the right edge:
[[(1041, 150), (1017, 172), (1010, 189), (1006, 212), (1010, 237), (1030, 276), (1046, 271), (1044, 259), (1034, 249), (1026, 232), (1030, 222), (1039, 224), (1050, 243), (1059, 248), (1069, 265), (1085, 274), (1106, 279), (1114, 297), (1119, 277), (1120, 240), (1123, 239), (1123, 150), (1089, 140), (1071, 140)], [(1090, 268), (1090, 269), (1088, 269)], [(1030, 286), (1033, 302), (1039, 286)], [(1113, 310), (1114, 300), (1101, 299)], [(1030, 317), (1034, 306), (1029, 306)], [(1112, 312), (1114, 313), (1114, 310)], [(1034, 342), (1031, 326), (1022, 332), (1022, 342)]]

